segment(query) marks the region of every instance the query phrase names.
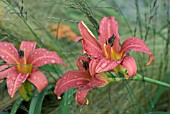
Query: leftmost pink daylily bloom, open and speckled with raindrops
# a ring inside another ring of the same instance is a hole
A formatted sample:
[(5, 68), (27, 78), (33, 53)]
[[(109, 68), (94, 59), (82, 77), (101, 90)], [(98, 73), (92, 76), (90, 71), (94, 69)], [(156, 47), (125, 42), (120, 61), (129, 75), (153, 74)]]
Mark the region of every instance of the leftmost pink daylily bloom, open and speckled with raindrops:
[(0, 79), (7, 78), (8, 93), (11, 97), (26, 79), (41, 92), (48, 82), (38, 67), (63, 63), (56, 52), (35, 47), (36, 42), (23, 41), (17, 50), (12, 43), (0, 42), (0, 57), (7, 63), (0, 66)]

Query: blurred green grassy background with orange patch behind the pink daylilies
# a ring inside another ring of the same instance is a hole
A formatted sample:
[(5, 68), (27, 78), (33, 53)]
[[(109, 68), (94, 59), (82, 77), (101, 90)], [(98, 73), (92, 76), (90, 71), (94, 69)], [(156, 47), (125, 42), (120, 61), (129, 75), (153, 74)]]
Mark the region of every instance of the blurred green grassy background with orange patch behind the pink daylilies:
[[(139, 37), (155, 56), (152, 65), (146, 66), (148, 55), (131, 51), (138, 73), (170, 83), (169, 0), (1, 0), (0, 41), (12, 42), (16, 47), (23, 40), (36, 41), (37, 47), (56, 51), (67, 63), (66, 68), (40, 68), (52, 85), (42, 98), (42, 114), (170, 113), (170, 89), (143, 81), (123, 81), (93, 89), (87, 96), (88, 106), (76, 104), (76, 90), (57, 100), (53, 85), (64, 72), (77, 69), (76, 59), (81, 55), (81, 43), (73, 41), (80, 35), (78, 22), (84, 21), (97, 37), (97, 27), (104, 16), (114, 16), (118, 21), (121, 43), (126, 38)], [(0, 111), (10, 112), (17, 107), (19, 94), (11, 99), (5, 85), (5, 80), (0, 83)], [(27, 114), (31, 101), (21, 101), (18, 106), (17, 114)]]

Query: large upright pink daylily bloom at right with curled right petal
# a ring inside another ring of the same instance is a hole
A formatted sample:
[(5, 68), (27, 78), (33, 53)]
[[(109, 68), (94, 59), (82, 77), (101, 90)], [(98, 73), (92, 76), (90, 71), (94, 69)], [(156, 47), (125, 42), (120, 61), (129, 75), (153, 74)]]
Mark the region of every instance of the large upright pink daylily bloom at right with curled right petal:
[[(127, 54), (131, 49), (136, 52), (149, 54), (149, 62), (147, 65), (151, 64), (154, 60), (154, 56), (145, 42), (139, 38), (128, 38), (123, 42), (122, 46), (120, 46), (118, 23), (114, 17), (104, 17), (101, 20), (99, 26), (99, 41), (96, 40), (95, 36), (83, 22), (80, 22), (78, 27), (82, 36), (77, 37), (75, 42), (82, 39), (83, 53), (100, 60), (96, 66), (95, 73), (112, 70), (124, 73), (126, 78), (135, 76), (137, 70), (136, 62)], [(121, 62), (117, 60), (121, 60)], [(126, 69), (128, 73), (126, 73), (124, 69)]]

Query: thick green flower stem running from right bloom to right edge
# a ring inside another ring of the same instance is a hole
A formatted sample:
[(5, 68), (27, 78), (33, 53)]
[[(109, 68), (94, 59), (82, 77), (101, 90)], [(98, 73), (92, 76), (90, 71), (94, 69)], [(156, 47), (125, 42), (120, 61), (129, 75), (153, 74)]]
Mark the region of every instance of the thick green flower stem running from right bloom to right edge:
[(154, 80), (154, 79), (151, 79), (151, 78), (147, 78), (147, 77), (141, 76), (140, 74), (136, 74), (136, 76), (134, 76), (133, 78), (129, 78), (129, 79), (125, 79), (125, 78), (122, 78), (122, 77), (121, 78), (114, 78), (114, 79), (110, 78), (109, 82), (119, 82), (119, 81), (122, 81), (122, 80), (146, 81), (146, 82), (149, 82), (149, 83), (153, 83), (153, 84), (157, 84), (157, 85), (160, 85), (160, 86), (170, 88), (170, 84), (168, 84), (168, 83), (161, 82), (161, 81), (158, 81), (158, 80)]

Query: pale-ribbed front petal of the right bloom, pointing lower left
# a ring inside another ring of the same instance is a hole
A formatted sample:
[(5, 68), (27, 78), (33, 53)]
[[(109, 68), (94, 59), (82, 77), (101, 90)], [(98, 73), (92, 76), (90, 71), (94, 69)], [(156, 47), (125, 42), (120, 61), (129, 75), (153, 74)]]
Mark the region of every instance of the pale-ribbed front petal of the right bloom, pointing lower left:
[(121, 63), (122, 60), (108, 60), (103, 58), (99, 61), (98, 65), (96, 66), (96, 73), (105, 72), (113, 70), (116, 66)]

